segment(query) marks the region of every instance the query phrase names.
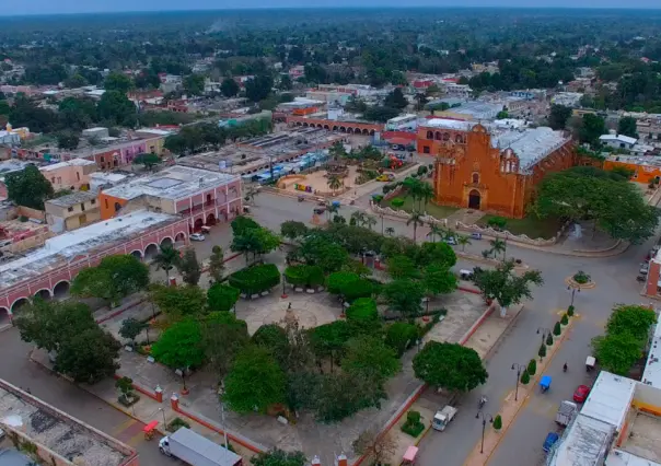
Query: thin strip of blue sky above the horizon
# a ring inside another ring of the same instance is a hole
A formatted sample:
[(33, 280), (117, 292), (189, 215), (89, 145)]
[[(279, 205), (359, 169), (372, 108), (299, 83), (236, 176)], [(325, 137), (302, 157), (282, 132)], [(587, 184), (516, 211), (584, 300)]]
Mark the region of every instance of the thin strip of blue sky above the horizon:
[(379, 7), (500, 7), (500, 8), (626, 8), (661, 9), (660, 0), (4, 0), (0, 15), (97, 13), (124, 11), (222, 10), (253, 8), (379, 8)]

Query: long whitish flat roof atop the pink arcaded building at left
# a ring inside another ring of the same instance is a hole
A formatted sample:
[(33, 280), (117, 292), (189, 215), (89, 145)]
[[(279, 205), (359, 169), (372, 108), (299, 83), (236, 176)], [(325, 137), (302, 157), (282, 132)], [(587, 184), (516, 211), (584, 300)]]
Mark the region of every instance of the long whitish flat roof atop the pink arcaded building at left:
[(44, 246), (0, 264), (0, 290), (56, 270), (79, 255), (117, 246), (176, 220), (179, 218), (175, 215), (138, 210), (51, 237)]

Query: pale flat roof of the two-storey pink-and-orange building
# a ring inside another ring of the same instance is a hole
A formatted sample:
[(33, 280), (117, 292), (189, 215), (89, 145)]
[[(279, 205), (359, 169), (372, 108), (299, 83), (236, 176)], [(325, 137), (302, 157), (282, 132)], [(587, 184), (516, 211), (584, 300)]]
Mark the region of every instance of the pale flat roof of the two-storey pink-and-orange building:
[(236, 176), (225, 173), (174, 165), (153, 175), (135, 178), (105, 189), (103, 193), (127, 200), (142, 195), (176, 200), (193, 196), (202, 189), (225, 185), (235, 179), (237, 179)]

